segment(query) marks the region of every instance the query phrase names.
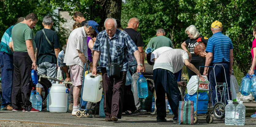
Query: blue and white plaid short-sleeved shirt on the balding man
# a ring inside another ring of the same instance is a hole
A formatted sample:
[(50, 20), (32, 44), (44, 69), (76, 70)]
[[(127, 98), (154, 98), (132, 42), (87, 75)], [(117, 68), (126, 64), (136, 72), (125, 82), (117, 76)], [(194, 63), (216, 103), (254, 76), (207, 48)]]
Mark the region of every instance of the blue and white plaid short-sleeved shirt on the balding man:
[[(106, 30), (101, 31), (96, 38), (93, 50), (100, 51), (100, 66), (97, 68), (101, 72), (101, 68), (108, 68), (108, 51), (106, 37), (109, 39), (109, 35)], [(109, 54), (110, 62), (117, 63), (119, 65), (123, 64), (120, 71), (128, 70), (129, 55), (138, 50), (136, 44), (132, 41), (132, 38), (124, 31), (118, 30), (114, 36), (109, 39)]]

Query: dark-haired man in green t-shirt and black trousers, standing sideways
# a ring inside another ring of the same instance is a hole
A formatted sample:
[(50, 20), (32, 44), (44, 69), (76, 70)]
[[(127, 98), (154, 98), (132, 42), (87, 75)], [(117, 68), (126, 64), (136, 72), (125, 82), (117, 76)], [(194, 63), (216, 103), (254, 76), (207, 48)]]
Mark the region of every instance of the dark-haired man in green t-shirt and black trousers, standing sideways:
[[(34, 69), (36, 71), (36, 44), (33, 41), (34, 36), (31, 29), (36, 26), (36, 22), (36, 14), (30, 13), (21, 23), (13, 26), (13, 111), (39, 112), (39, 110), (32, 107), (31, 102), (29, 101), (32, 86), (30, 84), (31, 70)], [(22, 95), (21, 97), (24, 109), (18, 101), (20, 94)]]

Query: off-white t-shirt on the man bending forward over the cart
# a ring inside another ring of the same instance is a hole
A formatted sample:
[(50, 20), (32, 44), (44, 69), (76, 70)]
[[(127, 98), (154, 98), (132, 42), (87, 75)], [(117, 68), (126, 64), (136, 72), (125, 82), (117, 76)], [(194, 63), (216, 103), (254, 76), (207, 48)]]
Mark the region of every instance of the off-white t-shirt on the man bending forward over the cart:
[(161, 68), (176, 73), (184, 66), (185, 59), (189, 59), (186, 51), (182, 49), (167, 50), (155, 60), (153, 70)]

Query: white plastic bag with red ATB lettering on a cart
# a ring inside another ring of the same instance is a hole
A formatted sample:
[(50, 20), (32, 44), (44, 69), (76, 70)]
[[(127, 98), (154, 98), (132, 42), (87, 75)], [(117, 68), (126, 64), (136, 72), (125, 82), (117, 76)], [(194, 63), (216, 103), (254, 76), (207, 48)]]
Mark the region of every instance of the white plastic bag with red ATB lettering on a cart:
[[(205, 79), (205, 82), (199, 80), (199, 88), (198, 90), (209, 90), (209, 81), (207, 76), (203, 76)], [(191, 76), (189, 79), (189, 82), (187, 84), (187, 92), (189, 95), (193, 95), (194, 93), (197, 92), (197, 87), (198, 87), (198, 77), (197, 75)]]

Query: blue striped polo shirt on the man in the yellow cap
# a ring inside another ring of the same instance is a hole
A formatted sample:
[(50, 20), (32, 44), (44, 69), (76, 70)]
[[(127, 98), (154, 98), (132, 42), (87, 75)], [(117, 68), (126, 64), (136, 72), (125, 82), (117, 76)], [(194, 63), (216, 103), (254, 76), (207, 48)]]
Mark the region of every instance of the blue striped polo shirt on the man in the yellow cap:
[(229, 51), (233, 48), (230, 38), (221, 32), (217, 32), (209, 38), (205, 51), (213, 53), (211, 63), (230, 62)]

